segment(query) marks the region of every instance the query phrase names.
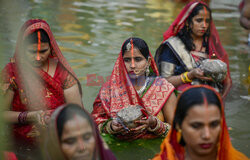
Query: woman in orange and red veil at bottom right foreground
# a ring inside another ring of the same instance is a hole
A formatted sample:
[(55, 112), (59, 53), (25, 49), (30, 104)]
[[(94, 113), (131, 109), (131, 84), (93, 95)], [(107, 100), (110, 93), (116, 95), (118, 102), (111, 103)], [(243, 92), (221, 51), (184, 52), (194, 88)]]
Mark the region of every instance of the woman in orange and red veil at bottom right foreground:
[(247, 160), (233, 148), (221, 96), (197, 85), (178, 97), (173, 127), (153, 160)]

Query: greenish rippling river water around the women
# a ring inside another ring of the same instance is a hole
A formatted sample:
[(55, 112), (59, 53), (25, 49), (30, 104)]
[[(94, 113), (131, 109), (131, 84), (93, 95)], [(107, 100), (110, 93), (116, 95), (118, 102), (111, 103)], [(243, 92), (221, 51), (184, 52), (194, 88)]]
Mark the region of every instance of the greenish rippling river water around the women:
[[(250, 84), (247, 82), (250, 48), (248, 33), (239, 25), (239, 2), (212, 0), (210, 7), (229, 55), (233, 80), (225, 109), (230, 136), (233, 145), (250, 157)], [(13, 55), (21, 25), (29, 18), (45, 19), (80, 79), (85, 108), (92, 111), (101, 83), (110, 75), (124, 40), (140, 37), (154, 55), (162, 33), (183, 6), (168, 0), (1, 0), (1, 67)], [(95, 84), (87, 82), (95, 76)]]

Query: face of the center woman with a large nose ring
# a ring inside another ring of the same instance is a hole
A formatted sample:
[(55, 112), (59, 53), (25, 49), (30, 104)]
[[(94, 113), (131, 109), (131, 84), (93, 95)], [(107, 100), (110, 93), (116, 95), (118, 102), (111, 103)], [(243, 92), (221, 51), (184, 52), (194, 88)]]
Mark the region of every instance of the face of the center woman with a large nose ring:
[(140, 52), (139, 49), (133, 49), (133, 57), (131, 50), (125, 51), (123, 55), (123, 60), (128, 71), (129, 77), (132, 79), (138, 78), (139, 76), (144, 76), (147, 66), (150, 64)]

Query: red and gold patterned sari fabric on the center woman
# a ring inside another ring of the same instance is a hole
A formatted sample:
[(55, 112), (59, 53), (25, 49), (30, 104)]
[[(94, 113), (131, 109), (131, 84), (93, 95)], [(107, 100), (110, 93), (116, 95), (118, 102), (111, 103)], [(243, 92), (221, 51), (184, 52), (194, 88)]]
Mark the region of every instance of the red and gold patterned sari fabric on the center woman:
[[(150, 53), (151, 69), (159, 75), (153, 57)], [(122, 57), (122, 51), (115, 63), (110, 79), (102, 86), (93, 105), (92, 116), (101, 130), (105, 121), (116, 117), (116, 113), (129, 105), (141, 105), (151, 115), (157, 116), (162, 114), (161, 109), (174, 91), (172, 84), (164, 78), (156, 77), (146, 93), (139, 97), (135, 90), (125, 67)], [(138, 139), (153, 138), (150, 133), (141, 133), (134, 135), (133, 133), (126, 135), (117, 135), (120, 139)]]

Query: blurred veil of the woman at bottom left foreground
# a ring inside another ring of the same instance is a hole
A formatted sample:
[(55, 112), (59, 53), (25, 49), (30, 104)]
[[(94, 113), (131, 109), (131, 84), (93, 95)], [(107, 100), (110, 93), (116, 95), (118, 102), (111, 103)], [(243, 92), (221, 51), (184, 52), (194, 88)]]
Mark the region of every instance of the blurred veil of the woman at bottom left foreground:
[[(46, 140), (44, 144), (44, 159), (46, 160), (66, 160), (61, 146), (60, 140), (58, 137), (57, 131), (57, 118), (60, 115), (61, 111), (65, 108), (65, 106), (58, 107), (55, 112), (51, 116), (51, 121), (48, 125), (48, 131), (46, 132)], [(85, 111), (85, 110), (84, 110)], [(87, 111), (85, 111), (88, 113)], [(88, 114), (89, 115), (89, 114)], [(91, 115), (89, 115), (91, 117)], [(86, 117), (85, 117), (86, 118)], [(91, 118), (91, 127), (93, 129), (95, 142), (96, 142), (96, 152), (94, 154), (93, 160), (116, 160), (113, 153), (107, 148), (106, 144), (103, 143), (101, 136), (99, 135), (99, 131), (97, 129), (94, 120)]]

